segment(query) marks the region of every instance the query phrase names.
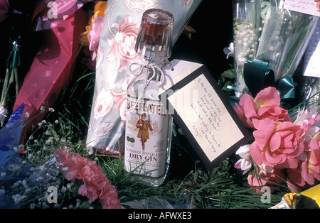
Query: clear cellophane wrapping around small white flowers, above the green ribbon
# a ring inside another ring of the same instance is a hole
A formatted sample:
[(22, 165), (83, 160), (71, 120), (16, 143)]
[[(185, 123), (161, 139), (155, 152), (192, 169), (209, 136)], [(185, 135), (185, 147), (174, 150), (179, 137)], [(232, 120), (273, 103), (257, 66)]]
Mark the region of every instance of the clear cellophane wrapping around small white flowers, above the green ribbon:
[(274, 82), (292, 77), (319, 18), (284, 9), (284, 0), (235, 0), (233, 6), (236, 96), (249, 92), (243, 73), (247, 61), (267, 62)]

